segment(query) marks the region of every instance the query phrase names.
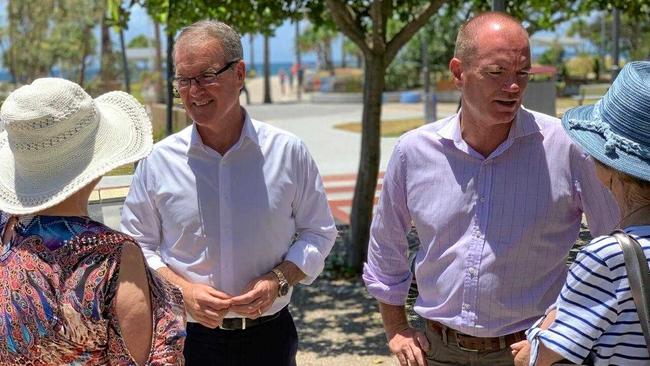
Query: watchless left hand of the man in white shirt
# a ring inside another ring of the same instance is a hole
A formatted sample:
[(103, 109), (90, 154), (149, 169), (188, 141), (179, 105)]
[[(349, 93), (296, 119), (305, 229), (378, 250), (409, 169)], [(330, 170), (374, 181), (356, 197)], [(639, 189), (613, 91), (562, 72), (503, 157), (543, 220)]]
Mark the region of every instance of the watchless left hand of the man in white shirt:
[(216, 328), (223, 323), (223, 317), (230, 309), (232, 296), (199, 283), (183, 289), (185, 309), (201, 325)]

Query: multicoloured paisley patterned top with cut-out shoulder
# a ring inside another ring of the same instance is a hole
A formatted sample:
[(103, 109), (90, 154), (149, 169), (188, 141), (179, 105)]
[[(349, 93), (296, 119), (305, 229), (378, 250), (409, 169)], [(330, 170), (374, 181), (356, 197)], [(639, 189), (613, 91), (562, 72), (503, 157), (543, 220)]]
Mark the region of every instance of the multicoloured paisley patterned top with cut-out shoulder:
[[(0, 212), (0, 233), (9, 217)], [(23, 216), (0, 249), (1, 365), (135, 365), (115, 316), (130, 237), (86, 217)], [(153, 338), (147, 365), (181, 365), (178, 289), (147, 267)]]

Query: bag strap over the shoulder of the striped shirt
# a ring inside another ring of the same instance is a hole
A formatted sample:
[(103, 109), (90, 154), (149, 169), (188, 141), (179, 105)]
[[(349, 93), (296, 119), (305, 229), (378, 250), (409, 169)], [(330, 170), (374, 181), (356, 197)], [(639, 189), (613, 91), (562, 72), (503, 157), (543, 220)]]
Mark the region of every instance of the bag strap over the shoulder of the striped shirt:
[(648, 261), (643, 253), (643, 247), (630, 235), (616, 230), (612, 233), (623, 249), (627, 278), (630, 283), (630, 292), (639, 314), (641, 329), (645, 337), (646, 346), (650, 348), (650, 270)]

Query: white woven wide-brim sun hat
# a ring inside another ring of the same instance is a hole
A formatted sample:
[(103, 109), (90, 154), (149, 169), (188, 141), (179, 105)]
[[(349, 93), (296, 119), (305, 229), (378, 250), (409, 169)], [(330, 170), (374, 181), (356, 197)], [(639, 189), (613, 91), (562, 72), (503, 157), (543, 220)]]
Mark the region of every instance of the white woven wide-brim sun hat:
[(59, 78), (12, 92), (0, 131), (0, 210), (10, 214), (52, 207), (153, 146), (151, 122), (134, 97), (114, 91), (93, 100)]

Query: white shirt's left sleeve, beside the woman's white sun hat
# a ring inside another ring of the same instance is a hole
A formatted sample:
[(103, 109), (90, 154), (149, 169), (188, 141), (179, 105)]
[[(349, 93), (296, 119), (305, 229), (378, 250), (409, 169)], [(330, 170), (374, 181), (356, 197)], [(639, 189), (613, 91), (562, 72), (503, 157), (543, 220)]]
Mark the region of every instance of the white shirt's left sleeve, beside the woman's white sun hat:
[(166, 265), (160, 257), (161, 221), (155, 201), (149, 194), (154, 189), (150, 186), (152, 183), (147, 166), (146, 159), (141, 161), (133, 175), (122, 209), (120, 230), (140, 244), (147, 264), (156, 270)]

